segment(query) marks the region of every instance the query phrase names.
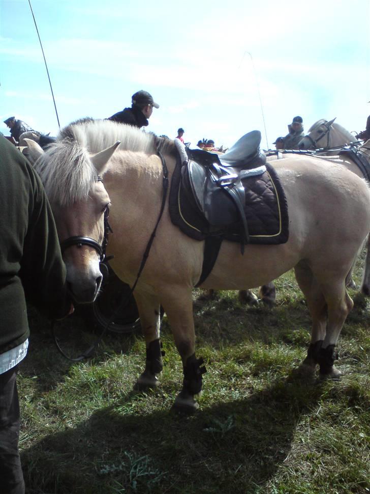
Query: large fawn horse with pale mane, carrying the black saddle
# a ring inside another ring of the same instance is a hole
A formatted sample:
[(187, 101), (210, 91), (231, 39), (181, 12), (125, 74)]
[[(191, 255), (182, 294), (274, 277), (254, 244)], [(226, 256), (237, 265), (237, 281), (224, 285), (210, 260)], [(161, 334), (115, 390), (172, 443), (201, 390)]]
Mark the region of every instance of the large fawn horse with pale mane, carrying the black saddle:
[[(158, 148), (171, 180), (177, 153), (173, 141), (111, 121), (86, 120), (61, 131), (58, 142), (45, 153), (36, 143), (29, 145), (32, 159), (39, 158), (35, 168), (45, 184), (61, 242), (81, 235), (102, 242), (104, 211), (111, 201), (109, 221), (114, 234), (107, 254), (114, 255), (111, 264), (116, 274), (133, 285), (163, 201), (166, 181)], [(274, 166), (288, 204), (288, 241), (248, 244), (244, 255), (238, 243), (223, 241), (201, 287), (252, 288), (294, 267), (312, 316), (311, 344), (302, 368), (313, 371), (319, 364), (322, 376), (336, 377), (335, 345), (353, 306), (346, 277), (370, 230), (370, 191), (345, 167), (335, 163), (328, 167), (318, 158), (292, 155)], [(137, 386), (158, 383), (162, 305), (183, 364), (183, 386), (175, 406), (185, 410), (196, 409), (194, 396), (201, 391), (205, 371), (195, 356), (192, 311), (203, 244), (171, 223), (167, 200), (134, 293), (146, 341), (146, 366)], [(67, 280), (78, 300), (87, 302), (96, 296), (101, 282), (99, 258), (94, 243), (67, 242)]]

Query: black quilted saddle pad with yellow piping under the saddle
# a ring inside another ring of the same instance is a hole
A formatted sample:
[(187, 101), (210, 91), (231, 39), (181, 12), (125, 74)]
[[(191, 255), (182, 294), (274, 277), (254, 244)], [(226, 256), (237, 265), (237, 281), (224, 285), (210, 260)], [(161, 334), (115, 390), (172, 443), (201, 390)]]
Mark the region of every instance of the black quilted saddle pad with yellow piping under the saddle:
[[(266, 172), (242, 180), (245, 189), (245, 216), (248, 222), (250, 243), (276, 245), (289, 237), (289, 218), (286, 196), (273, 167), (266, 163)], [(235, 223), (226, 230), (210, 232), (209, 225), (194, 203), (191, 190), (181, 180), (178, 162), (171, 180), (169, 196), (171, 221), (195, 240), (209, 236), (222, 236), (240, 242), (240, 225)]]

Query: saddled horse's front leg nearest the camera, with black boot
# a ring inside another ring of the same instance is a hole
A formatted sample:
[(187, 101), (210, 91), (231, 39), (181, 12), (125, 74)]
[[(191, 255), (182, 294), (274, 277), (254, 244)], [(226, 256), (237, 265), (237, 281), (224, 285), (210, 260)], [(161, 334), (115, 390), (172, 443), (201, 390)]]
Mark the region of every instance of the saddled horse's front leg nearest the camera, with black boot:
[(182, 390), (176, 396), (174, 409), (193, 413), (198, 408), (194, 396), (202, 390), (202, 375), (205, 372), (203, 359), (195, 356), (195, 331), (193, 319), (192, 289), (172, 287), (162, 304), (166, 311), (177, 351), (183, 368)]

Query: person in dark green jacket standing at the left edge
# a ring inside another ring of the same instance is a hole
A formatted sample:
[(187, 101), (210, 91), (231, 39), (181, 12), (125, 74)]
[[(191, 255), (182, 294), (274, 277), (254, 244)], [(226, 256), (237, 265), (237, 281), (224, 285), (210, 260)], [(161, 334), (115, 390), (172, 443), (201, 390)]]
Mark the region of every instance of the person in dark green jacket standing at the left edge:
[(27, 353), (26, 300), (52, 319), (73, 312), (54, 218), (40, 178), (0, 136), (0, 490), (23, 494), (16, 373)]

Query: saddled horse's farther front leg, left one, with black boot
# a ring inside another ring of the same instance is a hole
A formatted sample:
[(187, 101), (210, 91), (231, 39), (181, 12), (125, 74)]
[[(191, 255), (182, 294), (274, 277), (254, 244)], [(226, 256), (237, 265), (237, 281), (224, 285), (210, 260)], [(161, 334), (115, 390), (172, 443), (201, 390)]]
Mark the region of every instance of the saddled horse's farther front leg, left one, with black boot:
[(135, 293), (140, 323), (146, 344), (145, 370), (137, 379), (134, 389), (156, 388), (160, 381), (157, 374), (163, 369), (162, 344), (160, 340), (160, 303), (156, 296)]

